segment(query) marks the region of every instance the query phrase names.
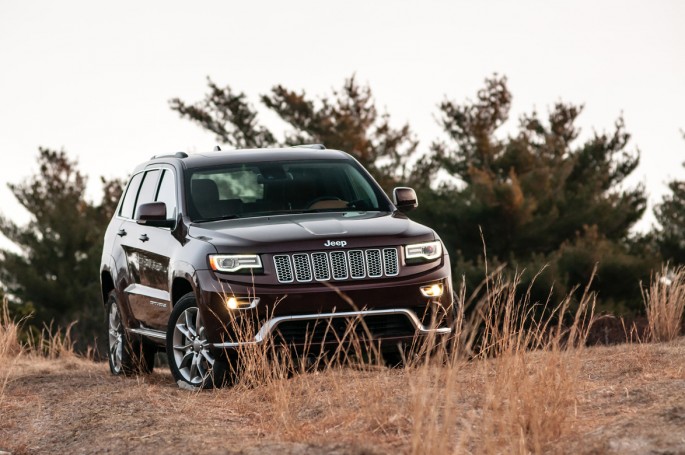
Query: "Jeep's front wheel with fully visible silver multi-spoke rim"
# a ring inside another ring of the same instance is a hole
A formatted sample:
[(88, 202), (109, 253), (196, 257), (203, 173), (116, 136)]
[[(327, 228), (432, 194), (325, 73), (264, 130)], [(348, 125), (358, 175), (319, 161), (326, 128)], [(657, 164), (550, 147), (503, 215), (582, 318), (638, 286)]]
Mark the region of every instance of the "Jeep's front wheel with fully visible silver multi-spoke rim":
[(212, 354), (193, 293), (181, 297), (171, 312), (166, 352), (171, 374), (181, 388), (218, 388), (228, 382), (229, 364)]

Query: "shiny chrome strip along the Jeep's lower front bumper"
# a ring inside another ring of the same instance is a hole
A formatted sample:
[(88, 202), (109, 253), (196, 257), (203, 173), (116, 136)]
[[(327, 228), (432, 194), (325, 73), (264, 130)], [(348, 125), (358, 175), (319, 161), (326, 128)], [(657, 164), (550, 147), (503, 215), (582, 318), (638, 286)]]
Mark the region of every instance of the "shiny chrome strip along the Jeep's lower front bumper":
[(449, 327), (439, 327), (436, 329), (431, 329), (423, 324), (421, 320), (416, 316), (411, 310), (405, 308), (396, 308), (390, 310), (363, 310), (363, 311), (345, 311), (340, 313), (319, 313), (319, 314), (298, 314), (293, 316), (279, 316), (276, 318), (269, 319), (262, 325), (259, 332), (255, 335), (252, 340), (248, 341), (233, 341), (225, 343), (213, 343), (212, 346), (215, 348), (237, 348), (240, 346), (251, 345), (251, 344), (261, 344), (263, 343), (271, 333), (276, 330), (276, 327), (285, 321), (316, 321), (316, 320), (326, 320), (334, 318), (354, 318), (354, 317), (365, 317), (365, 316), (382, 316), (390, 314), (401, 314), (406, 316), (409, 321), (414, 325), (416, 330), (421, 335), (428, 335), (430, 333), (436, 334), (448, 334), (452, 333), (452, 329)]

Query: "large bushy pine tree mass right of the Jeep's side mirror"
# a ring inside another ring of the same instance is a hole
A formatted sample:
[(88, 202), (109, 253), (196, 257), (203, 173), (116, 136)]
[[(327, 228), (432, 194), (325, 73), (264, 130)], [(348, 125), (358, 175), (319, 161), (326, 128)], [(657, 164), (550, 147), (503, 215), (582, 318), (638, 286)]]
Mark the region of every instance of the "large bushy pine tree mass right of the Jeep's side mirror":
[[(639, 299), (639, 279), (657, 259), (628, 240), (646, 197), (641, 185), (625, 184), (639, 153), (628, 150), (623, 120), (580, 142), (575, 123), (582, 107), (557, 103), (544, 120), (535, 112), (522, 116), (505, 136), (500, 129), (511, 100), (506, 78), (494, 76), (474, 101), (440, 104), (445, 138), (433, 143), (416, 175), (433, 181), (441, 171), (450, 179), (437, 189), (424, 185), (418, 217), (457, 253), (455, 271), (470, 271), (473, 280), (483, 276), (482, 232), (494, 262), (526, 268), (528, 276), (549, 267), (541, 292), (552, 283), (565, 292), (599, 262), (603, 297)], [(612, 282), (617, 278), (629, 292)]]

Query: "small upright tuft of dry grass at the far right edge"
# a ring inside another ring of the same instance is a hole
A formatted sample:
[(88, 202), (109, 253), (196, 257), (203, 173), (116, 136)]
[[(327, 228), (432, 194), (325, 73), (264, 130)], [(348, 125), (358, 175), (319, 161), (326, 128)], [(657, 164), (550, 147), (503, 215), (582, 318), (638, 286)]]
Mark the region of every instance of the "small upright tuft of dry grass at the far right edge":
[(685, 268), (665, 266), (652, 276), (643, 300), (653, 341), (672, 341), (680, 335), (685, 312)]

